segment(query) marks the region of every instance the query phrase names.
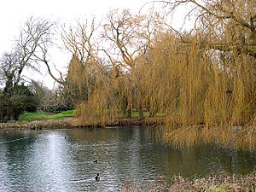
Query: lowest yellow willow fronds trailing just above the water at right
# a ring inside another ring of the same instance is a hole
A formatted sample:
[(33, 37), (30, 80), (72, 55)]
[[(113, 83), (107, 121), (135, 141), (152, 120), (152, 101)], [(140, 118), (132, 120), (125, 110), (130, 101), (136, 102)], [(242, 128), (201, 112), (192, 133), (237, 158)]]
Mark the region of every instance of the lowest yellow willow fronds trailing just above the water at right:
[(256, 148), (255, 135), (255, 124), (239, 131), (234, 130), (232, 127), (192, 125), (167, 130), (165, 142), (175, 148), (183, 148), (184, 146), (200, 143), (218, 143), (224, 148), (254, 150)]

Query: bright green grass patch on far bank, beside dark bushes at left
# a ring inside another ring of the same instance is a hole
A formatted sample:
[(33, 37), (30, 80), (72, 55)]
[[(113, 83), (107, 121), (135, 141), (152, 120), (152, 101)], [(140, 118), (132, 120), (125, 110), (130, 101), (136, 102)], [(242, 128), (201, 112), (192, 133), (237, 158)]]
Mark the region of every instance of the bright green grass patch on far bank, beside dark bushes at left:
[(34, 120), (47, 120), (47, 119), (65, 119), (75, 116), (74, 110), (62, 111), (61, 113), (45, 113), (38, 111), (36, 113), (22, 113), (19, 116), (19, 121), (34, 121)]

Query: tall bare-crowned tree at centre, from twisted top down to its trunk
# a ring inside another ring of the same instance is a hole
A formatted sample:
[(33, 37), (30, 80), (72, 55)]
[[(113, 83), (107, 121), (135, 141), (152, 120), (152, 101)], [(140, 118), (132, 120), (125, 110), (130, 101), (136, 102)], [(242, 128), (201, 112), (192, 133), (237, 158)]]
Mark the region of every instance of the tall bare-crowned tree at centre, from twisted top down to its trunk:
[[(145, 90), (143, 73), (139, 68), (147, 61), (148, 50), (153, 38), (160, 30), (158, 15), (135, 15), (129, 10), (111, 11), (103, 24), (102, 38), (108, 44), (103, 48), (113, 67), (113, 79), (119, 81), (119, 96), (126, 102), (128, 116), (132, 108), (137, 108), (139, 119), (143, 119)], [(118, 70), (118, 71), (116, 71)], [(123, 77), (119, 75), (125, 72)]]

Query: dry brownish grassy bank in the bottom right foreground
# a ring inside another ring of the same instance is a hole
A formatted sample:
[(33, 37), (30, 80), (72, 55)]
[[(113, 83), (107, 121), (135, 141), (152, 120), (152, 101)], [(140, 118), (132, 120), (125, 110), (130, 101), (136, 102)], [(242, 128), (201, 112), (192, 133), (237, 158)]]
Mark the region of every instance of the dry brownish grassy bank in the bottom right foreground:
[(246, 176), (220, 174), (218, 176), (195, 177), (188, 179), (184, 177), (172, 177), (167, 181), (165, 177), (158, 177), (150, 186), (141, 187), (133, 185), (127, 181), (121, 192), (146, 192), (146, 191), (175, 191), (175, 192), (255, 192), (256, 191), (256, 171)]

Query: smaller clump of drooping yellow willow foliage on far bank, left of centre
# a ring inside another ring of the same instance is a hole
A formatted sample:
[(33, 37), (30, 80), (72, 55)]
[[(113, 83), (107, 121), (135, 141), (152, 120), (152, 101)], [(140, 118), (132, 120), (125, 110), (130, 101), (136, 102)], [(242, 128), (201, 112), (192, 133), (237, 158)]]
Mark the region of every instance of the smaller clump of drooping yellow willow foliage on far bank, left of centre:
[[(100, 74), (100, 73), (99, 73)], [(106, 125), (118, 119), (123, 108), (124, 95), (129, 90), (123, 89), (122, 78), (98, 76), (94, 91), (87, 102), (80, 103), (77, 108), (77, 125)]]

